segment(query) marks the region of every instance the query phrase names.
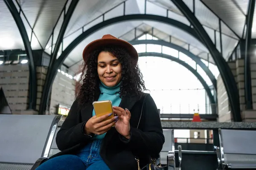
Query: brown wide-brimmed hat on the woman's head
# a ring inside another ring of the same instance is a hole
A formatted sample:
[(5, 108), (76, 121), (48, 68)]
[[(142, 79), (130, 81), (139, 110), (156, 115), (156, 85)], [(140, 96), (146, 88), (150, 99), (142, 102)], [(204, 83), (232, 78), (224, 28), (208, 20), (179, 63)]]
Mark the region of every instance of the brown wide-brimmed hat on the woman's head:
[(118, 39), (110, 34), (103, 35), (101, 39), (94, 40), (93, 42), (90, 42), (88, 45), (86, 45), (83, 51), (84, 62), (87, 62), (87, 59), (92, 51), (105, 45), (118, 45), (125, 48), (130, 54), (131, 59), (133, 59), (134, 63), (137, 64), (139, 55), (134, 46), (129, 42)]

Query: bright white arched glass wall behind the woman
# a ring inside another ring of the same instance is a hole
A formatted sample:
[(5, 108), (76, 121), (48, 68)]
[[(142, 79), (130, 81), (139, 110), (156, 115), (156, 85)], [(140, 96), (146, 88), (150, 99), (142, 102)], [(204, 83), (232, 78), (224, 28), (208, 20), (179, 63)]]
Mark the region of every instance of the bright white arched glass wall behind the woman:
[[(149, 34), (143, 35), (139, 40), (153, 39)], [(134, 45), (138, 53), (157, 52), (179, 58), (196, 69), (198, 73), (211, 86), (207, 74), (196, 65), (195, 61), (185, 54), (166, 46), (142, 44)], [(215, 65), (202, 60), (215, 77), (218, 76), (218, 69)], [(145, 86), (148, 93), (154, 98), (160, 113), (210, 113), (209, 99), (201, 82), (192, 72), (182, 65), (170, 59), (161, 57), (140, 57), (139, 67), (143, 74)]]

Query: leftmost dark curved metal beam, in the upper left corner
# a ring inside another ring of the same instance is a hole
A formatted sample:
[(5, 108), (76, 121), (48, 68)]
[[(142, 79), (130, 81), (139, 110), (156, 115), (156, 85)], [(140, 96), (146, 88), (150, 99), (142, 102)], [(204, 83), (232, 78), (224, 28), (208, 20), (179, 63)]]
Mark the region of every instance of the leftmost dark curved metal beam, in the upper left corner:
[(19, 28), (21, 38), (24, 43), (26, 54), (29, 59), (29, 109), (35, 110), (36, 107), (36, 96), (37, 96), (37, 77), (35, 70), (35, 62), (33, 58), (32, 48), (29, 42), (29, 37), (26, 32), (26, 28), (21, 20), (20, 14), (12, 0), (4, 0), (6, 6), (12, 14), (12, 17)]

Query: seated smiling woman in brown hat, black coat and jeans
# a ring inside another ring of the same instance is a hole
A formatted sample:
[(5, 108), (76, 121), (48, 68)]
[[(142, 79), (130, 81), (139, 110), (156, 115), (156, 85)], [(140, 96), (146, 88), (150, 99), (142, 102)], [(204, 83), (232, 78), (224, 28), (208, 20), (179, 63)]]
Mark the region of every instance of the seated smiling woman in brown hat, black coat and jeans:
[[(105, 35), (84, 48), (83, 59), (76, 100), (56, 136), (61, 152), (37, 170), (137, 170), (137, 160), (145, 166), (165, 139), (154, 100), (142, 92), (137, 51)], [(92, 103), (102, 100), (112, 101), (113, 113), (96, 117)]]

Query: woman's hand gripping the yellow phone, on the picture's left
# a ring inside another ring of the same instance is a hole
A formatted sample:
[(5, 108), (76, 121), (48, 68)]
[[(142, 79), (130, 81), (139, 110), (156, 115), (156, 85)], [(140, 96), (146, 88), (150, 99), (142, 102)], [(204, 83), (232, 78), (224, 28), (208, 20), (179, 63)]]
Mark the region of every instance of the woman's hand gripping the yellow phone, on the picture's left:
[(93, 116), (91, 117), (85, 124), (84, 130), (87, 135), (90, 133), (94, 133), (96, 135), (101, 135), (103, 133), (106, 133), (111, 127), (116, 123), (118, 120), (118, 116), (114, 116), (111, 119), (107, 119), (109, 116), (111, 116), (113, 113), (106, 114), (103, 116)]

